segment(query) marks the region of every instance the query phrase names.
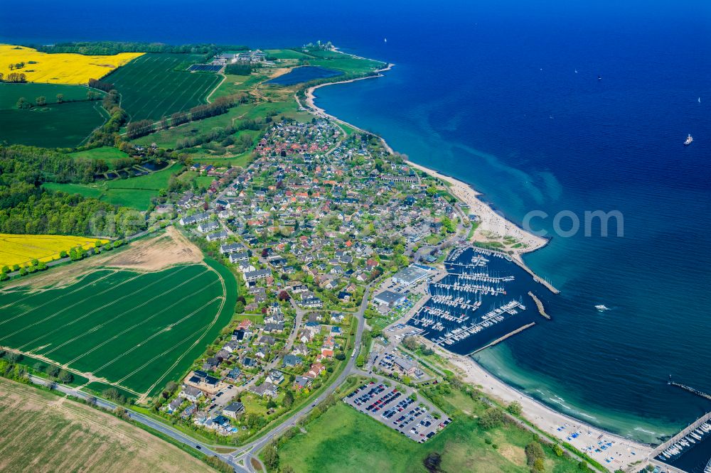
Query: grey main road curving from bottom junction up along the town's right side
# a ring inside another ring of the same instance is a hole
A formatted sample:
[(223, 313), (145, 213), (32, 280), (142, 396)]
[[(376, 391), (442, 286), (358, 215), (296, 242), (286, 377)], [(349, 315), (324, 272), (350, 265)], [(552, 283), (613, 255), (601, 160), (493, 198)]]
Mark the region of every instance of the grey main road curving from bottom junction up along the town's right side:
[[(355, 312), (355, 317), (358, 320), (358, 327), (355, 330), (355, 343), (353, 344), (354, 350), (360, 347), (360, 341), (363, 338), (363, 330), (365, 328), (365, 319), (363, 318), (363, 314), (365, 314), (365, 309), (368, 308), (368, 299), (370, 298), (370, 290), (372, 286), (373, 283), (370, 283), (368, 284), (368, 286), (365, 286), (365, 291), (363, 291), (363, 299), (360, 301), (360, 307), (358, 308), (358, 312)], [(333, 383), (331, 383), (331, 385), (328, 386), (328, 388), (326, 388), (326, 390), (319, 395), (319, 401), (323, 401), (325, 398), (333, 394), (333, 392), (336, 391), (336, 388), (338, 388), (338, 386), (341, 386), (341, 384), (343, 384), (343, 381), (346, 381), (346, 378), (348, 378), (348, 376), (351, 376), (351, 374), (358, 372), (357, 368), (355, 367), (356, 358), (357, 355), (348, 359), (346, 363), (346, 368), (343, 369), (343, 372), (338, 375), (338, 378), (336, 378), (336, 380), (333, 381)], [(247, 471), (257, 471), (254, 469), (254, 467), (252, 467), (252, 459), (256, 460), (257, 462), (260, 462), (259, 458), (257, 458), (257, 453), (262, 450), (262, 448), (269, 445), (269, 442), (272, 442), (272, 440), (279, 437), (279, 435), (282, 435), (282, 433), (286, 432), (289, 428), (294, 427), (299, 419), (304, 418), (306, 415), (309, 415), (311, 410), (318, 406), (318, 404), (318, 401), (315, 401), (313, 403), (310, 403), (306, 407), (301, 408), (301, 410), (292, 415), (291, 418), (277, 425), (277, 427), (273, 428), (272, 430), (269, 430), (269, 433), (264, 435), (264, 437), (261, 437), (259, 440), (255, 440), (254, 442), (248, 443), (247, 445), (240, 447), (237, 452), (232, 452), (230, 456), (233, 458), (233, 460), (235, 460), (235, 462), (241, 459), (244, 468), (247, 469)]]

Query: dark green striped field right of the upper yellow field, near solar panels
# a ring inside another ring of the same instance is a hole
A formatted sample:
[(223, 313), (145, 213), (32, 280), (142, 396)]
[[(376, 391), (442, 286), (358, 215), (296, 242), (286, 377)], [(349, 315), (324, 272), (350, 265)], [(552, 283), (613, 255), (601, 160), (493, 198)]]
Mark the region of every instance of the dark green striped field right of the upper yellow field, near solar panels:
[(199, 55), (144, 54), (102, 80), (116, 87), (121, 94), (121, 107), (132, 120), (158, 120), (206, 103), (205, 97), (221, 77), (176, 70), (201, 60)]

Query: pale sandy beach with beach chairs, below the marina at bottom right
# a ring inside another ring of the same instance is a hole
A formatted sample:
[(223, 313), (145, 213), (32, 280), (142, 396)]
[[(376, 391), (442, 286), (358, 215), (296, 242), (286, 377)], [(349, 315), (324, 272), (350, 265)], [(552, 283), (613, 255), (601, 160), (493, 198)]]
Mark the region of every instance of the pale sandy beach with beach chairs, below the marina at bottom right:
[[(626, 469), (636, 462), (644, 462), (652, 452), (652, 448), (649, 445), (608, 433), (568, 415), (554, 411), (535, 399), (516, 391), (515, 388), (508, 386), (508, 384), (503, 383), (495, 376), (491, 376), (469, 357), (451, 354), (432, 344), (430, 346), (464, 373), (463, 379), (466, 383), (482, 386), (482, 391), (488, 396), (498, 398), (505, 403), (518, 401), (523, 406), (525, 418), (538, 428), (560, 439), (562, 442), (570, 443), (578, 450), (587, 453), (587, 455), (608, 467), (611, 471)], [(564, 427), (564, 429), (558, 430), (560, 427)], [(579, 435), (576, 438), (570, 437), (574, 433), (579, 433)], [(606, 449), (596, 452), (599, 442), (602, 442)], [(612, 445), (607, 446), (608, 442), (612, 443)], [(610, 460), (610, 462), (606, 460)], [(642, 466), (644, 464), (640, 465), (640, 467)]]

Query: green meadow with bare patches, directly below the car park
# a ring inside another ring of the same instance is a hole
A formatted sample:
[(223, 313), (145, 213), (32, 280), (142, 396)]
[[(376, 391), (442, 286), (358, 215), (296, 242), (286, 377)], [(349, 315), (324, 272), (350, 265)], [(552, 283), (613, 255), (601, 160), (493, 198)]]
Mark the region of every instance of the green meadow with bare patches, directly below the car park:
[[(471, 399), (466, 404), (476, 411)], [(447, 428), (419, 444), (341, 401), (304, 428), (305, 434), (279, 447), (282, 467), (289, 465), (296, 472), (427, 473), (422, 460), (438, 452), (442, 472), (528, 473), (524, 448), (535, 438), (511, 424), (483, 430), (460, 413)], [(547, 448), (545, 453), (546, 472), (577, 471), (576, 462), (556, 457)]]

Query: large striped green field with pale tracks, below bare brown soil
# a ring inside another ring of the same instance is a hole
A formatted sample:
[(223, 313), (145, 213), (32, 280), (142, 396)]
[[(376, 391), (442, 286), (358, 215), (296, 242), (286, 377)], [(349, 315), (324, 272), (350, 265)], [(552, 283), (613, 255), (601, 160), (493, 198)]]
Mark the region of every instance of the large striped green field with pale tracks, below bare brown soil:
[(152, 273), (95, 268), (66, 287), (1, 291), (0, 345), (153, 395), (232, 316), (235, 278), (205, 262)]

